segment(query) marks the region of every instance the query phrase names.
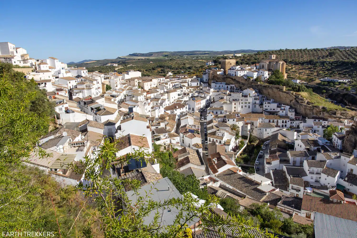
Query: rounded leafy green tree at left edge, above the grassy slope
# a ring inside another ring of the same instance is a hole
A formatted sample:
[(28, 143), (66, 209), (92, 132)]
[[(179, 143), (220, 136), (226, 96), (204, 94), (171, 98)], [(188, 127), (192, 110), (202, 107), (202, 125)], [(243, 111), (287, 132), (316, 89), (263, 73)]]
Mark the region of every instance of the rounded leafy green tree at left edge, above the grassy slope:
[(53, 111), (44, 91), (16, 75), (5, 70), (0, 74), (0, 157), (9, 164), (29, 156), (37, 140), (48, 132)]

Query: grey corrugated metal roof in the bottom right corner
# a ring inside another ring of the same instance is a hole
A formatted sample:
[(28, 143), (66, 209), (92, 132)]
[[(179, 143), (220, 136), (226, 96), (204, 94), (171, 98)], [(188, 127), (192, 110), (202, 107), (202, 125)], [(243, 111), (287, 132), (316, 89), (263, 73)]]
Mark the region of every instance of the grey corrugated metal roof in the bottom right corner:
[(357, 237), (357, 222), (315, 212), (315, 238)]

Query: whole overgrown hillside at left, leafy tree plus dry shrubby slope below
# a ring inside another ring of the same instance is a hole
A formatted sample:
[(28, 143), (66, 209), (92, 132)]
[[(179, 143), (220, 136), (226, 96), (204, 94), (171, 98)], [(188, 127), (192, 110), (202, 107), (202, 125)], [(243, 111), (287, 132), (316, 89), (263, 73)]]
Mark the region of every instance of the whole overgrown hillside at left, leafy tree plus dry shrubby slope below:
[[(92, 211), (86, 199), (73, 187), (61, 187), (49, 174), (21, 163), (30, 162), (30, 155), (52, 156), (34, 148), (48, 132), (52, 104), (45, 91), (24, 80), (22, 73), (0, 67), (0, 226), (4, 231), (61, 230), (62, 237), (80, 236), (86, 222), (92, 221), (81, 212), (83, 206)], [(91, 230), (102, 237), (98, 226), (91, 223)]]

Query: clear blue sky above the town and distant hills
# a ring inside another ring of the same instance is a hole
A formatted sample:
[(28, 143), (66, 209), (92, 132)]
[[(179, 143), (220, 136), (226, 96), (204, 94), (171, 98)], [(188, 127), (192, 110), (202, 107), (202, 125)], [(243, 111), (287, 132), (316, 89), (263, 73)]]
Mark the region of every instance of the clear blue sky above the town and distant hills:
[[(225, 2), (227, 3), (227, 2)], [(62, 62), (134, 52), (357, 45), (357, 1), (24, 1), (0, 42)], [(2, 9), (13, 9), (2, 1)], [(4, 20), (5, 19), (5, 20)]]

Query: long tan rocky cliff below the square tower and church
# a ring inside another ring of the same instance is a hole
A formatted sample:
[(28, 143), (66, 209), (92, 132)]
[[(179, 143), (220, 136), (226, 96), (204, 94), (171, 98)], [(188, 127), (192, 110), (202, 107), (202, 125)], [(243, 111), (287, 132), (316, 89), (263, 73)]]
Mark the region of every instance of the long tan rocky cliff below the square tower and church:
[(321, 116), (325, 118), (351, 119), (357, 115), (357, 111), (326, 111), (327, 108), (323, 108), (322, 106), (309, 105), (309, 102), (305, 98), (300, 97), (300, 95), (291, 91), (285, 91), (284, 86), (259, 84), (246, 80), (243, 77), (234, 76), (217, 75), (209, 80), (210, 84), (212, 80), (235, 84), (240, 89), (256, 88), (262, 95), (267, 96), (268, 99), (273, 98), (276, 102), (295, 108), (295, 112), (301, 114), (303, 117)]

